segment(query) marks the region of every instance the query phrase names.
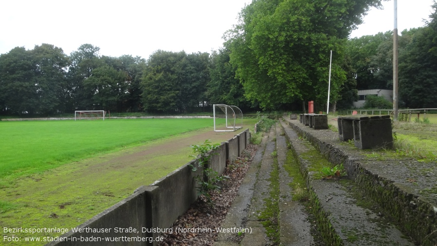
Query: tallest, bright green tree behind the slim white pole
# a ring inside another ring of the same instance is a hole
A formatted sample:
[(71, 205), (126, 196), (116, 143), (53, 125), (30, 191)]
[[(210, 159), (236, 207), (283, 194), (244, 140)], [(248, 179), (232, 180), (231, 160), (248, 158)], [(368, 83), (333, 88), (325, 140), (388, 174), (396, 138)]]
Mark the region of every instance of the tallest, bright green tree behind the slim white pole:
[(331, 98), (346, 80), (343, 42), (381, 0), (257, 0), (227, 33), (231, 63), (245, 96), (264, 109), (328, 95), (329, 51), (334, 50)]

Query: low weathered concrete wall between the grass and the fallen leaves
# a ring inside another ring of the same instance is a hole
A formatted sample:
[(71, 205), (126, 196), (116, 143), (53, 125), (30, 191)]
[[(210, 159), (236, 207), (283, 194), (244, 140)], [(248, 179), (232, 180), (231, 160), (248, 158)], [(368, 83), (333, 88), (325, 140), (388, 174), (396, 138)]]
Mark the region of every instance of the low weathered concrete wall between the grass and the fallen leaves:
[[(231, 163), (239, 156), (239, 148), (244, 149), (247, 144), (247, 129), (242, 134), (223, 142), (213, 154), (209, 165), (213, 170), (222, 174), (226, 168), (226, 160)], [(198, 198), (196, 177), (202, 175), (202, 167), (198, 167), (199, 160), (192, 160), (181, 168), (174, 170), (165, 177), (155, 181), (150, 186), (142, 186), (135, 192), (94, 216), (91, 220), (76, 228), (84, 228), (81, 232), (69, 231), (62, 236), (62, 242), (51, 242), (48, 246), (74, 245), (110, 245), (110, 246), (155, 246), (158, 245), (162, 230), (169, 228)], [(191, 166), (198, 167), (196, 172)], [(127, 228), (116, 232), (116, 228)], [(102, 232), (105, 230), (106, 232)], [(134, 230), (135, 229), (135, 230)], [(105, 237), (117, 242), (104, 241)], [(101, 240), (89, 243), (83, 240)], [(129, 240), (127, 241), (127, 238)]]

